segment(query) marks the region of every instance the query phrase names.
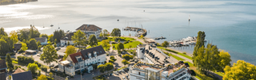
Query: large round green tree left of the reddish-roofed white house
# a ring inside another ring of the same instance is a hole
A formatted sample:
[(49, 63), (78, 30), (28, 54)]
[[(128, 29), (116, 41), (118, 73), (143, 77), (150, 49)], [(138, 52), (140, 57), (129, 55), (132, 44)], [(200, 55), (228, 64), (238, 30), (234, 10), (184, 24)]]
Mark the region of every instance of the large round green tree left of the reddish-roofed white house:
[(42, 55), (40, 55), (40, 60), (43, 61), (43, 63), (50, 64), (51, 62), (57, 62), (56, 59), (58, 59), (57, 51), (54, 49), (51, 45), (46, 45), (42, 50)]

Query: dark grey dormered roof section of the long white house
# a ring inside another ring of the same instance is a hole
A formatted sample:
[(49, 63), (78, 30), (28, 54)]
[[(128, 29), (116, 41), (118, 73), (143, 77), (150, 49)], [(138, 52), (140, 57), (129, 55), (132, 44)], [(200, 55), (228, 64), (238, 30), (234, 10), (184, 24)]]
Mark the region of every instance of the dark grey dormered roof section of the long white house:
[(97, 56), (98, 55), (103, 55), (106, 54), (106, 51), (102, 48), (102, 46), (97, 46), (94, 48), (88, 48), (86, 50), (82, 50), (81, 54), (84, 59), (89, 59), (88, 54), (91, 53), (91, 58), (94, 58), (94, 51), (97, 51)]

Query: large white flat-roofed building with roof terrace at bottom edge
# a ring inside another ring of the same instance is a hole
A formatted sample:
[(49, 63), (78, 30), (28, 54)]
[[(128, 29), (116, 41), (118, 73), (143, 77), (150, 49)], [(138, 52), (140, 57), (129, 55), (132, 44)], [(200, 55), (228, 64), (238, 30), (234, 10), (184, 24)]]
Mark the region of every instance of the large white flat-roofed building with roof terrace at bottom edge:
[(130, 80), (190, 80), (191, 71), (184, 63), (149, 64), (138, 62), (130, 66)]

